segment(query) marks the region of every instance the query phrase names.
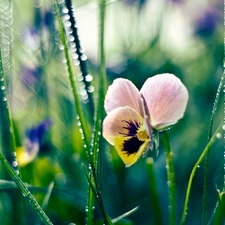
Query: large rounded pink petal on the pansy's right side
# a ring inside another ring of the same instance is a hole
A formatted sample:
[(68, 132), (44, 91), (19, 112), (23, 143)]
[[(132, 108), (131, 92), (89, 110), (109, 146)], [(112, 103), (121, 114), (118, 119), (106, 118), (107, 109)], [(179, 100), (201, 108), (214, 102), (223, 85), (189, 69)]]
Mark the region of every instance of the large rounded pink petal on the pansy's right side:
[(157, 130), (175, 124), (183, 117), (188, 92), (173, 74), (159, 74), (148, 78), (140, 92), (147, 103), (151, 126)]

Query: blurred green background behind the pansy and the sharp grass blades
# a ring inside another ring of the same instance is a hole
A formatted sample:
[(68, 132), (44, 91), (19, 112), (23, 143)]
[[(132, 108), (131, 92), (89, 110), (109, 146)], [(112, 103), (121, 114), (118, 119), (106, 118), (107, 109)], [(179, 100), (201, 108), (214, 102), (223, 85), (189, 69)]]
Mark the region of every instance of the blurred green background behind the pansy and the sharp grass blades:
[[(96, 103), (99, 88), (98, 2), (77, 0), (73, 3), (81, 45), (92, 76), (90, 92)], [(213, 102), (223, 73), (223, 32), (223, 3), (218, 0), (120, 0), (108, 2), (106, 7), (108, 85), (115, 78), (124, 77), (140, 89), (148, 77), (173, 73), (189, 92), (184, 118), (168, 131), (175, 166), (177, 221), (181, 217), (191, 169), (207, 144)], [(0, 46), (21, 178), (33, 185), (31, 191), (40, 204), (48, 185), (54, 182), (46, 209), (54, 224), (85, 224), (88, 182), (82, 163), (87, 164), (87, 156), (60, 50), (52, 1), (1, 0)], [(73, 69), (79, 80), (76, 56)], [(81, 82), (79, 88), (91, 136), (94, 113), (85, 103)], [(214, 128), (222, 119), (221, 95)], [(223, 138), (218, 138), (209, 154), (208, 220), (216, 205), (216, 189), (223, 187), (223, 142)], [(125, 168), (112, 146), (105, 141), (102, 146), (100, 184), (108, 214), (115, 218), (139, 206), (120, 224), (153, 224), (146, 158)], [(160, 141), (155, 174), (164, 224), (168, 224), (165, 165), (164, 147)], [(194, 178), (186, 224), (201, 224), (203, 174), (204, 164)], [(2, 166), (0, 179), (9, 180)], [(1, 224), (39, 224), (19, 191), (3, 185), (0, 189)], [(13, 201), (9, 196), (13, 196)], [(103, 224), (98, 207), (94, 224)]]

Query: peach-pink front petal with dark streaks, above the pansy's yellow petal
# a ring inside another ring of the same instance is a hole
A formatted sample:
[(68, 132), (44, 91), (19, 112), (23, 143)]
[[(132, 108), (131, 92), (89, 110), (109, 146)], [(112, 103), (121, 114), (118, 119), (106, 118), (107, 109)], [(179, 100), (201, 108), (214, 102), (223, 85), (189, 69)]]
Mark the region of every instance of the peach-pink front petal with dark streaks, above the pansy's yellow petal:
[(112, 145), (118, 136), (128, 135), (127, 122), (143, 124), (144, 119), (129, 106), (112, 110), (103, 121), (103, 137)]

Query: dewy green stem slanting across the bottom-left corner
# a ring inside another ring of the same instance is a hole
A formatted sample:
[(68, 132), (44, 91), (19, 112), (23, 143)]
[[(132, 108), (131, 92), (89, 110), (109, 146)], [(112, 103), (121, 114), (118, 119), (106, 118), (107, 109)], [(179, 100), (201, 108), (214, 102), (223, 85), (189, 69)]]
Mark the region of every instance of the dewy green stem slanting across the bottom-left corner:
[(17, 184), (17, 186), (20, 188), (23, 196), (26, 199), (28, 199), (28, 202), (30, 203), (30, 205), (32, 206), (32, 208), (37, 212), (37, 214), (41, 218), (42, 222), (45, 225), (53, 225), (53, 223), (49, 220), (48, 216), (45, 214), (45, 212), (40, 207), (40, 205), (38, 204), (38, 202), (36, 201), (36, 199), (33, 197), (33, 195), (30, 193), (30, 191), (27, 189), (27, 187), (25, 186), (25, 184), (23, 183), (23, 181), (18, 177), (18, 175), (16, 174), (15, 170), (9, 164), (9, 162), (7, 161), (7, 159), (2, 154), (1, 151), (0, 151), (0, 160), (4, 164), (6, 170), (9, 173), (9, 175), (11, 176), (11, 178), (15, 181), (15, 183)]

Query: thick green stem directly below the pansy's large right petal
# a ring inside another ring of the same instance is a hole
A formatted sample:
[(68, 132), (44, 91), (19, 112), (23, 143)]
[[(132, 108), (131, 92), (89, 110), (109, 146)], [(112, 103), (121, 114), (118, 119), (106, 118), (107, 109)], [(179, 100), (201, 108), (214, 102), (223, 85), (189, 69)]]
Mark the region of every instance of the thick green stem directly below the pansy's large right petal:
[(174, 180), (174, 168), (173, 168), (173, 159), (172, 152), (170, 149), (169, 139), (166, 131), (162, 132), (163, 143), (166, 152), (166, 168), (168, 176), (168, 188), (169, 188), (169, 219), (170, 224), (175, 224), (176, 216), (176, 199), (175, 199), (175, 180)]

